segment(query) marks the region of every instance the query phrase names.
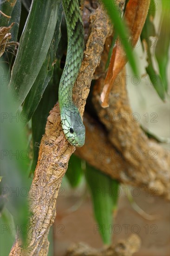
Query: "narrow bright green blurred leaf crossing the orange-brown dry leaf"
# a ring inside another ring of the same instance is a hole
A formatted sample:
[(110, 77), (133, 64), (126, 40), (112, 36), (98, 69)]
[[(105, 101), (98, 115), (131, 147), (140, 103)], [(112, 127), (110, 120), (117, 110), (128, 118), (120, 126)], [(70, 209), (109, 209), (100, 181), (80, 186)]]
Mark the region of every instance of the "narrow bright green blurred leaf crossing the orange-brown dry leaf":
[(114, 7), (114, 2), (112, 0), (103, 0), (105, 9), (107, 10), (110, 19), (114, 25), (116, 34), (119, 35), (124, 51), (127, 55), (127, 59), (130, 62), (131, 68), (135, 74), (137, 74), (137, 64), (135, 61), (134, 53), (131, 47), (131, 43), (128, 41), (129, 35), (127, 33), (127, 28), (125, 26), (124, 20), (120, 18), (118, 10)]

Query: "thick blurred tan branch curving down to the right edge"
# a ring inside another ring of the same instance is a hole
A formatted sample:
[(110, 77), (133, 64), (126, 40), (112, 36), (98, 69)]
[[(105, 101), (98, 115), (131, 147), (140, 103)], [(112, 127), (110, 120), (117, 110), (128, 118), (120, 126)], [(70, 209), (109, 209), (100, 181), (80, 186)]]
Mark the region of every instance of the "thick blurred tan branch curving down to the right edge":
[(111, 90), (110, 108), (100, 105), (103, 80), (99, 79), (96, 84), (93, 100), (100, 121), (108, 131), (109, 141), (131, 166), (125, 176), (128, 175), (134, 185), (146, 186), (149, 190), (156, 188), (157, 195), (170, 199), (170, 153), (148, 139), (135, 119), (138, 115), (133, 115), (129, 105), (125, 70), (118, 79)]

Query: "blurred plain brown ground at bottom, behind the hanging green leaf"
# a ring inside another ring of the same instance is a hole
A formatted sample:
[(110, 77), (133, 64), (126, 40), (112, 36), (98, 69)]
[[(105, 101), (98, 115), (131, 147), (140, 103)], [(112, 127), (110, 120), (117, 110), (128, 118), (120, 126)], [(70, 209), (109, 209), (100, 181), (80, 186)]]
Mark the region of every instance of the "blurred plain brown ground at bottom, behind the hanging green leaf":
[[(123, 186), (125, 187), (125, 186)], [(134, 256), (169, 256), (170, 255), (170, 207), (169, 202), (147, 191), (128, 189), (137, 205), (144, 210), (141, 215), (133, 209), (125, 189), (121, 189), (118, 212), (111, 232), (112, 241), (129, 237), (132, 233), (141, 238), (141, 248)], [(79, 195), (78, 195), (79, 194)], [(54, 234), (54, 255), (64, 256), (72, 243), (84, 242), (94, 248), (103, 246), (97, 224), (93, 217), (92, 202), (89, 196), (81, 202), (81, 191), (61, 189), (57, 205), (57, 217)], [(71, 207), (78, 209), (70, 211)], [(146, 215), (146, 216), (145, 216)], [(150, 218), (150, 220), (148, 219)], [(107, 230), (106, 230), (107, 232)]]

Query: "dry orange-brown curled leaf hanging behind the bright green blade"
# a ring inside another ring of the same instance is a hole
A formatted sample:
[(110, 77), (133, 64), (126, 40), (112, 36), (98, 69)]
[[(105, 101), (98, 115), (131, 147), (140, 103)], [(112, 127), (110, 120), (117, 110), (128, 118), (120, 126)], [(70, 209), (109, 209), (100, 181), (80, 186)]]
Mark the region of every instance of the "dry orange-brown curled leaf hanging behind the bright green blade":
[[(129, 0), (124, 13), (124, 20), (129, 29), (132, 47), (135, 47), (142, 32), (148, 13), (150, 0)], [(109, 107), (108, 99), (113, 81), (127, 62), (124, 48), (119, 44), (119, 38), (113, 47), (109, 69), (105, 78), (105, 85), (101, 93), (102, 107)]]

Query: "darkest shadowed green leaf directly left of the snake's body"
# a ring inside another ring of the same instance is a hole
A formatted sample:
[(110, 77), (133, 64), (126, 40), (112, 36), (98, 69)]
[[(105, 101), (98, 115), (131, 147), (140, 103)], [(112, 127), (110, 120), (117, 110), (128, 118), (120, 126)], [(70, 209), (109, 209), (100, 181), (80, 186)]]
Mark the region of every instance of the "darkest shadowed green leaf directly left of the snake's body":
[[(57, 26), (56, 26), (57, 27)], [(61, 22), (61, 39), (57, 47), (56, 57), (57, 61), (54, 65), (54, 71), (52, 79), (49, 82), (41, 101), (39, 102), (38, 108), (35, 110), (32, 116), (32, 131), (33, 131), (33, 164), (31, 167), (31, 173), (34, 172), (37, 165), (38, 155), (39, 155), (39, 145), (42, 135), (45, 133), (46, 120), (49, 115), (50, 110), (53, 108), (54, 104), (58, 101), (58, 89), (59, 81), (62, 74), (60, 69), (60, 59), (63, 56), (65, 49), (67, 47), (66, 39), (66, 24), (65, 19)]]

